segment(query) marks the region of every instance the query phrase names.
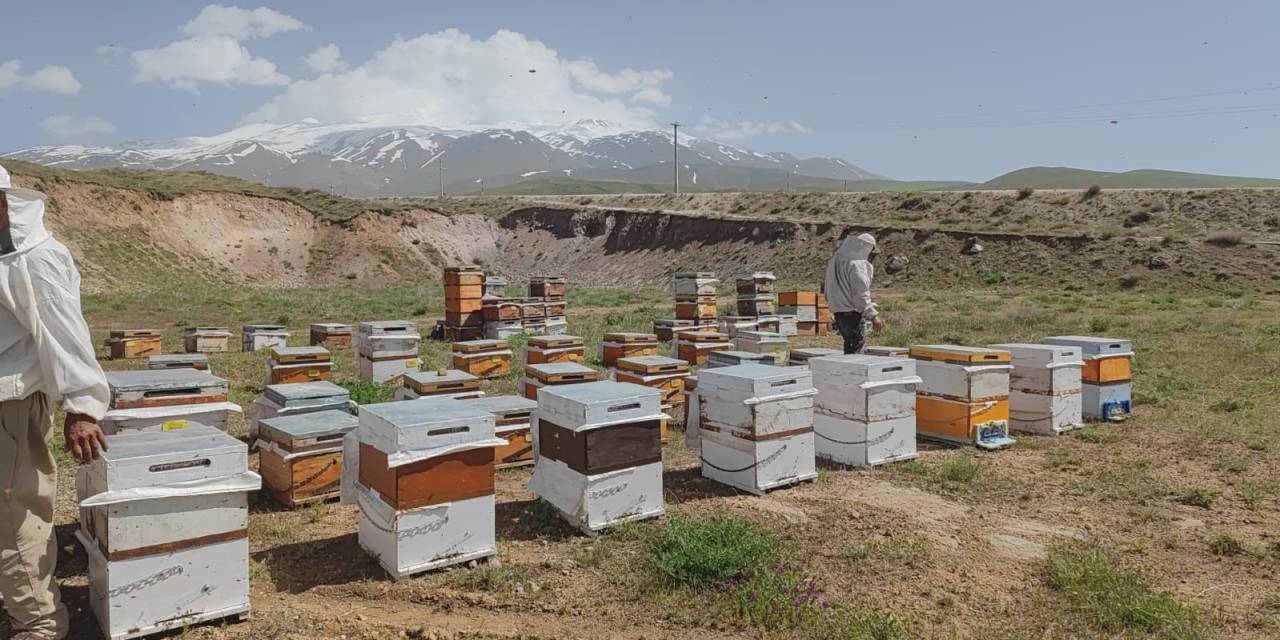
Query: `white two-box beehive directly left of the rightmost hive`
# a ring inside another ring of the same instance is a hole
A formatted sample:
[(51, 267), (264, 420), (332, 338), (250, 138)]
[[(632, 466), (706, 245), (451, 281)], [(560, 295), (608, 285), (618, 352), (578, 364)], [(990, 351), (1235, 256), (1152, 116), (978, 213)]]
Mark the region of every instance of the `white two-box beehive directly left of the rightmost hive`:
[(1007, 351), (1009, 426), (1014, 431), (1057, 435), (1083, 426), (1079, 347), (1056, 344), (992, 344)]

